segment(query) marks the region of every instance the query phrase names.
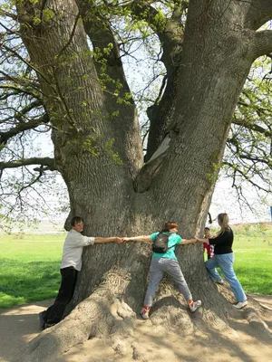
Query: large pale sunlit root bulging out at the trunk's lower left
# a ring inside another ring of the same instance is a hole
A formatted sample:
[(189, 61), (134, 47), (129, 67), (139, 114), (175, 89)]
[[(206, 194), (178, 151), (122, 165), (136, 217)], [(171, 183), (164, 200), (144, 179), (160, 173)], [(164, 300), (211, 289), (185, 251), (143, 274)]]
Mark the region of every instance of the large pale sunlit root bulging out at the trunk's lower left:
[(135, 313), (109, 289), (99, 288), (72, 313), (31, 340), (13, 362), (53, 361), (54, 357), (87, 339), (112, 333), (128, 334)]

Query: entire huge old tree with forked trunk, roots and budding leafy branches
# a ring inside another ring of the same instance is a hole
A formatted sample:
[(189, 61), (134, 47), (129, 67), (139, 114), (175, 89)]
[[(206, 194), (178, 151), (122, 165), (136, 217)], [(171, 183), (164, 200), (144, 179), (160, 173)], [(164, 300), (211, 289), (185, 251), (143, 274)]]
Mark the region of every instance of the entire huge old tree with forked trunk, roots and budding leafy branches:
[[(272, 17), (270, 1), (15, 1), (2, 5), (1, 13), (10, 19), (2, 22), (1, 35), (6, 64), (1, 71), (2, 170), (37, 165), (39, 176), (28, 175), (30, 185), (57, 170), (68, 189), (70, 214), (84, 215), (89, 235), (151, 233), (170, 219), (180, 224), (184, 237), (200, 233), (238, 96), (252, 63), (272, 52), (272, 32), (257, 31)], [(144, 160), (122, 59), (133, 50), (135, 35), (144, 43), (150, 33), (160, 41), (157, 60), (165, 76), (147, 112), (151, 126)], [(263, 135), (262, 149), (267, 148), (271, 129), (269, 123), (264, 127), (265, 114), (252, 122), (236, 117), (239, 127), (248, 129), (239, 141), (251, 142), (247, 132)], [(25, 157), (29, 130), (47, 127), (53, 157)], [(245, 160), (246, 148), (237, 139), (238, 132), (232, 132), (229, 145)], [(257, 143), (252, 146), (262, 153)], [(254, 161), (252, 152), (247, 155)], [(265, 165), (266, 157), (258, 162)], [(245, 165), (240, 169), (247, 176)], [(271, 158), (266, 165), (271, 168)], [(232, 169), (236, 176), (238, 169)], [(35, 338), (20, 360), (42, 359), (90, 336), (131, 329), (150, 255), (147, 245), (137, 243), (87, 249), (73, 311)], [(190, 289), (203, 300), (203, 313), (194, 322), (228, 328), (226, 316), (238, 311), (226, 300), (227, 290), (223, 297), (210, 286), (200, 246), (185, 247), (178, 256)], [(176, 297), (171, 285), (163, 284), (152, 319), (188, 329), (188, 312)]]

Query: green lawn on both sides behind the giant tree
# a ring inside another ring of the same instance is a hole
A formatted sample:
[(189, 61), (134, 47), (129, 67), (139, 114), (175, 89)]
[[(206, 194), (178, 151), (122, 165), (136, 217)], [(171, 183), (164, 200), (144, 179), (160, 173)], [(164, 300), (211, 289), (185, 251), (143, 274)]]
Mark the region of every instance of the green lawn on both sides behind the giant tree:
[[(272, 227), (233, 227), (234, 269), (248, 293), (272, 295)], [(0, 235), (0, 309), (54, 298), (65, 234)]]

